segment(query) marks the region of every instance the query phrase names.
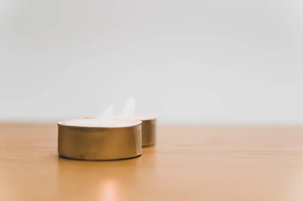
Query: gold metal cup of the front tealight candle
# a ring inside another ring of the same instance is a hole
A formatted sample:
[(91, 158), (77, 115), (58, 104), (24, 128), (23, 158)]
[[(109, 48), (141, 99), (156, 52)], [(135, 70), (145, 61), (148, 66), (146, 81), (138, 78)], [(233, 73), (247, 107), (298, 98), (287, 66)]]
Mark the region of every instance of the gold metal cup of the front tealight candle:
[[(72, 121), (72, 120), (70, 120)], [(125, 127), (82, 127), (58, 123), (58, 154), (78, 160), (122, 160), (141, 156), (141, 121)]]

